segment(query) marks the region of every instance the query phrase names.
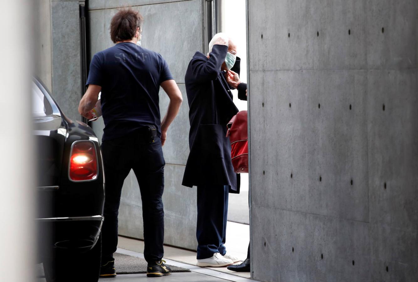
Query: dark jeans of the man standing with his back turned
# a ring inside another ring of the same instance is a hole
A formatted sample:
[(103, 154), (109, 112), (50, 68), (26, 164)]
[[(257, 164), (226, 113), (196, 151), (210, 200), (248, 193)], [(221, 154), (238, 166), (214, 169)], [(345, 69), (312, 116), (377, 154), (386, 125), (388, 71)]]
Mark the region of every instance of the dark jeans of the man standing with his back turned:
[[(147, 128), (148, 129), (148, 128)], [(151, 137), (152, 138), (152, 137)], [(147, 262), (161, 260), (164, 254), (164, 165), (161, 140), (150, 143), (149, 133), (134, 133), (102, 142), (105, 176), (102, 262), (112, 261), (117, 248), (117, 215), (123, 181), (133, 169), (138, 180), (144, 224), (144, 257)], [(132, 218), (139, 220), (139, 218)]]

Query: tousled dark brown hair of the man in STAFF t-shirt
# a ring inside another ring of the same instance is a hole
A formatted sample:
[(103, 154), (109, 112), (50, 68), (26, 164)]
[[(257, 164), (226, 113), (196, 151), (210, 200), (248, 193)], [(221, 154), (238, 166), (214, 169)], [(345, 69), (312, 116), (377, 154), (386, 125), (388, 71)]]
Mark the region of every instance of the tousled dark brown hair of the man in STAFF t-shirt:
[(123, 9), (116, 13), (110, 21), (110, 38), (113, 43), (129, 40), (135, 36), (136, 29), (142, 29), (144, 18), (132, 9)]

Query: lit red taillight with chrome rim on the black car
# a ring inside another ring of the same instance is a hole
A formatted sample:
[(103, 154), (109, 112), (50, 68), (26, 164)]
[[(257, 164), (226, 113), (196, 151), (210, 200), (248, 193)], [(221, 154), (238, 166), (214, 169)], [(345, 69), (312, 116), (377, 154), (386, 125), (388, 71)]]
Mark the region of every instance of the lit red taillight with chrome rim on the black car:
[(70, 152), (69, 177), (74, 181), (93, 180), (97, 177), (96, 148), (92, 141), (76, 141)]

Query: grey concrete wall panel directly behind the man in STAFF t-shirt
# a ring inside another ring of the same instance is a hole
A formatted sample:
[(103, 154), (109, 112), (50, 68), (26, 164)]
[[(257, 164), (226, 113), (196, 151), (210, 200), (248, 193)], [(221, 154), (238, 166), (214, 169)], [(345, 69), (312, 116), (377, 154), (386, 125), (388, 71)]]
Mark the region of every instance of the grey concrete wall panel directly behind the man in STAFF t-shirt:
[[(170, 3), (164, 3), (170, 2)], [(157, 3), (157, 4), (155, 4)], [(189, 107), (184, 75), (191, 57), (202, 51), (203, 10), (201, 0), (188, 1), (100, 1), (89, 2), (91, 53), (113, 46), (109, 35), (110, 19), (118, 7), (133, 5), (144, 16), (142, 46), (166, 59), (182, 94), (183, 105), (172, 123), (163, 147), (165, 168), (165, 244), (196, 249), (196, 189), (181, 186), (184, 166), (189, 155)], [(169, 99), (160, 91), (161, 115)], [(92, 124), (102, 136), (103, 121)], [(119, 234), (143, 239), (142, 204), (138, 182), (133, 171), (125, 179), (119, 209)]]

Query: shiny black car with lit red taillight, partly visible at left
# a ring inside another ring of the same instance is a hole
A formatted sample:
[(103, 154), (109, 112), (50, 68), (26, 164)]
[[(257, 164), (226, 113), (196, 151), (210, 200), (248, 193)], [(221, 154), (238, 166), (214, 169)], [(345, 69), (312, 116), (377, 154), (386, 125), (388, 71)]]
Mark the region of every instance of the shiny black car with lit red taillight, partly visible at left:
[(104, 205), (99, 141), (87, 124), (61, 112), (38, 79), (32, 99), (39, 262), (48, 282), (97, 281)]

